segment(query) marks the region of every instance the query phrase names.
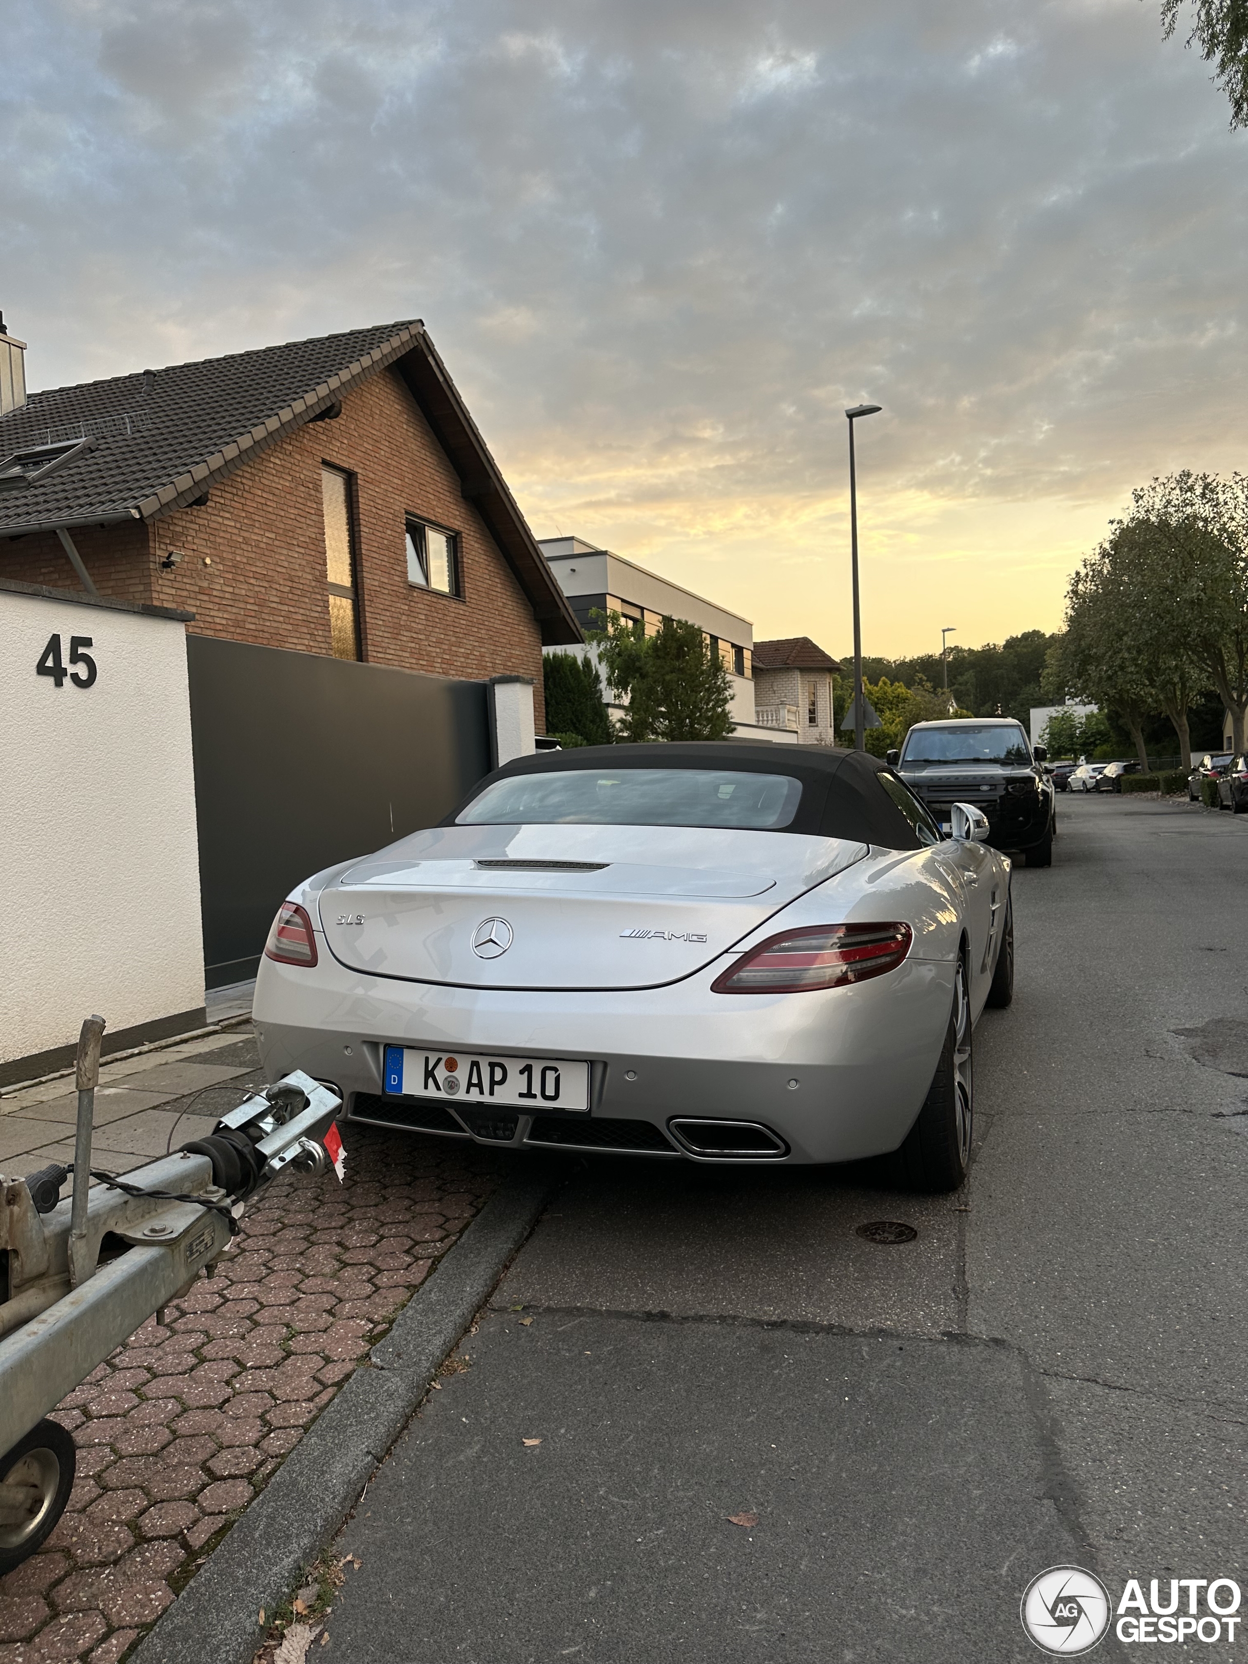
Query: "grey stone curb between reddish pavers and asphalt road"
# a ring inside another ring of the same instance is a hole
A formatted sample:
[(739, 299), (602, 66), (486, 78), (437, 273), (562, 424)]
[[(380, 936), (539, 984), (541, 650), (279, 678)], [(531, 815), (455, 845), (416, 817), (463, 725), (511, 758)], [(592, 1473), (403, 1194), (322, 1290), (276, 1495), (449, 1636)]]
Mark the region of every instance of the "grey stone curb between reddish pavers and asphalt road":
[(534, 1173), (494, 1191), (130, 1664), (251, 1664), (260, 1609), (281, 1604), (354, 1508), (554, 1188)]

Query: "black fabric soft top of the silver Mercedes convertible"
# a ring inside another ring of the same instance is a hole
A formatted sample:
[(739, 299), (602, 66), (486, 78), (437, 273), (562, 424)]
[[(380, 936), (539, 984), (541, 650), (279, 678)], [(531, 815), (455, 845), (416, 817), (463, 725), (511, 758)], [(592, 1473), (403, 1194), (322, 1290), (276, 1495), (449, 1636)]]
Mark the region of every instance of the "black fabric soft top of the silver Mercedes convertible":
[(518, 757), (478, 782), (443, 825), (494, 780), (514, 774), (554, 774), (586, 769), (734, 769), (739, 774), (782, 774), (800, 780), (797, 814), (780, 832), (844, 837), (884, 849), (920, 849), (920, 840), (880, 784), (892, 769), (860, 750), (829, 745), (769, 745), (749, 740), (691, 740), (662, 745), (577, 745), (574, 750), (539, 750)]

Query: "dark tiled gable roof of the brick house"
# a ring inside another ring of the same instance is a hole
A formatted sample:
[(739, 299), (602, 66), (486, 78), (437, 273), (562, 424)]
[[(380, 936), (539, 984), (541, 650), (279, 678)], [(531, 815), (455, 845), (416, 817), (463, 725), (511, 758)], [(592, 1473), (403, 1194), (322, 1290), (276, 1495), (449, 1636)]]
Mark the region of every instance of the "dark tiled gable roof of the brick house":
[(0, 416), (0, 474), (22, 451), (77, 448), (32, 466), (30, 478), (0, 478), (0, 537), (160, 519), (391, 364), (532, 606), (542, 644), (579, 642), (576, 616), (419, 318), (32, 393)]

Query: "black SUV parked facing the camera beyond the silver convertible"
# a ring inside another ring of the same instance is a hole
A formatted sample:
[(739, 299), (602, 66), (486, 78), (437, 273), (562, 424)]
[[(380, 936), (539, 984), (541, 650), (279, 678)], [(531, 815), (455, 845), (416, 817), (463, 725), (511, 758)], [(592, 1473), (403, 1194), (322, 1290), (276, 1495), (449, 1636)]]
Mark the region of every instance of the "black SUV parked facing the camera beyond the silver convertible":
[(975, 804), (988, 817), (993, 849), (1027, 855), (1028, 867), (1053, 864), (1053, 784), (1012, 717), (915, 722), (900, 752), (887, 760), (948, 830), (953, 804)]

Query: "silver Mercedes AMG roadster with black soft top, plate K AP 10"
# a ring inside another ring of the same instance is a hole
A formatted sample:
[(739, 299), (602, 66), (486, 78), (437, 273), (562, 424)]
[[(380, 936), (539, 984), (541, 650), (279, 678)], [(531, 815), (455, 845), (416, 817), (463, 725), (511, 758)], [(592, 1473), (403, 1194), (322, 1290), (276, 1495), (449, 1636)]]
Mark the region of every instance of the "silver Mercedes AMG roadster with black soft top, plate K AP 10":
[(970, 1158), (972, 1028), (1013, 992), (1010, 862), (860, 752), (539, 752), (300, 885), (255, 1015), (348, 1120), (694, 1161)]

